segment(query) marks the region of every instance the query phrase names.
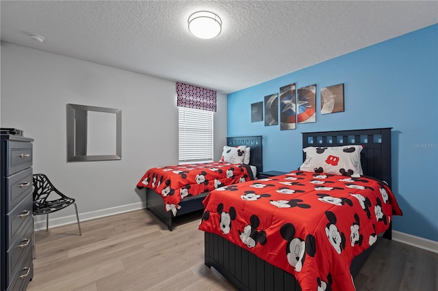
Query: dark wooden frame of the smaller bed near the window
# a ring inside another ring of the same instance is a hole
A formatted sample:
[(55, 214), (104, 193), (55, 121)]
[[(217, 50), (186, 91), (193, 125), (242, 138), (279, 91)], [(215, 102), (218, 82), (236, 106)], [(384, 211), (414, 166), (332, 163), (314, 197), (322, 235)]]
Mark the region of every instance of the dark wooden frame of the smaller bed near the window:
[[(257, 174), (263, 171), (263, 148), (261, 146), (261, 136), (253, 137), (227, 137), (227, 146), (248, 146), (251, 148), (250, 163), (257, 167)], [(189, 212), (204, 209), (203, 199), (208, 193), (202, 193), (196, 196), (185, 197), (179, 205), (181, 208), (177, 211), (178, 217)], [(146, 209), (150, 210), (159, 220), (166, 223), (168, 229), (172, 231), (172, 222), (174, 216), (171, 211), (166, 211), (162, 195), (146, 188)]]

